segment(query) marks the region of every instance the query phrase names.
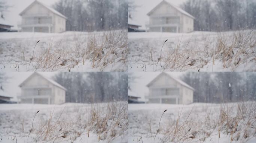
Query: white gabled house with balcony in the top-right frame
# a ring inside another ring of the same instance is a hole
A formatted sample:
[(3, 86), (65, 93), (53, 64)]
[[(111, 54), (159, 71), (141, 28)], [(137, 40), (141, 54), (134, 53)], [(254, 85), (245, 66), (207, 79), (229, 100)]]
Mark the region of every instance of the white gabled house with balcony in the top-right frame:
[(194, 30), (194, 17), (180, 7), (171, 4), (171, 0), (163, 0), (149, 13), (149, 32), (187, 33)]

